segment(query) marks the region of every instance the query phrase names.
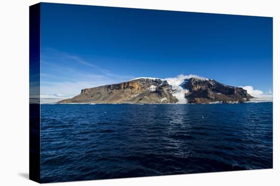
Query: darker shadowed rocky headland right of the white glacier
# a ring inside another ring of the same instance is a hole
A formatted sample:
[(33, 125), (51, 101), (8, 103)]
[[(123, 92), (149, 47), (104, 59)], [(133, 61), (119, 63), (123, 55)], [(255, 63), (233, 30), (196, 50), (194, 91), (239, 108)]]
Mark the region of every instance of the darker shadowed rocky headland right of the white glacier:
[(182, 85), (189, 92), (185, 98), (189, 103), (234, 103), (249, 101), (253, 96), (240, 87), (223, 85), (213, 79), (190, 78)]

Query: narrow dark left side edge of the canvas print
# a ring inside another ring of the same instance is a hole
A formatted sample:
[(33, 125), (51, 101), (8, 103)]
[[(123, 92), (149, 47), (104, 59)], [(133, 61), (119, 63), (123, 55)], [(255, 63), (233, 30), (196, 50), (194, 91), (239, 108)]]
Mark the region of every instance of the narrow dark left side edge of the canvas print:
[(40, 4), (29, 16), (29, 178), (40, 182)]

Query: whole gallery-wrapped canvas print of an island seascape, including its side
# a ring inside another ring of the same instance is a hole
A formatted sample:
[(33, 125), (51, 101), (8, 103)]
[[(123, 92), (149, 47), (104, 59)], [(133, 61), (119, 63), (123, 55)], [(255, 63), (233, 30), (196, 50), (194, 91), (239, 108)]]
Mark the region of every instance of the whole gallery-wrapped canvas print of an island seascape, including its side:
[(272, 18), (30, 7), (30, 179), (273, 168)]

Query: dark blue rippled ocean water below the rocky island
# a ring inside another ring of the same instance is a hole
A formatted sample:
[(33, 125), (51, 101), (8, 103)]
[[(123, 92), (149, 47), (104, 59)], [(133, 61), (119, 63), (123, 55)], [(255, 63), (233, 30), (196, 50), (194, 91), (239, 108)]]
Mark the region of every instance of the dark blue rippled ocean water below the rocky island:
[(42, 104), (41, 181), (272, 168), (272, 102)]

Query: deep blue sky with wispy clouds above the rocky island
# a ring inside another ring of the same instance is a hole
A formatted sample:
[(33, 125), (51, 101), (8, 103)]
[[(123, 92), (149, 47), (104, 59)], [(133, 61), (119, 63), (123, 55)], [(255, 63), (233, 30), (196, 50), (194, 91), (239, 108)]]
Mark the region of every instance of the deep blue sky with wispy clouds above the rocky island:
[(272, 91), (272, 18), (41, 6), (43, 95), (180, 74)]

